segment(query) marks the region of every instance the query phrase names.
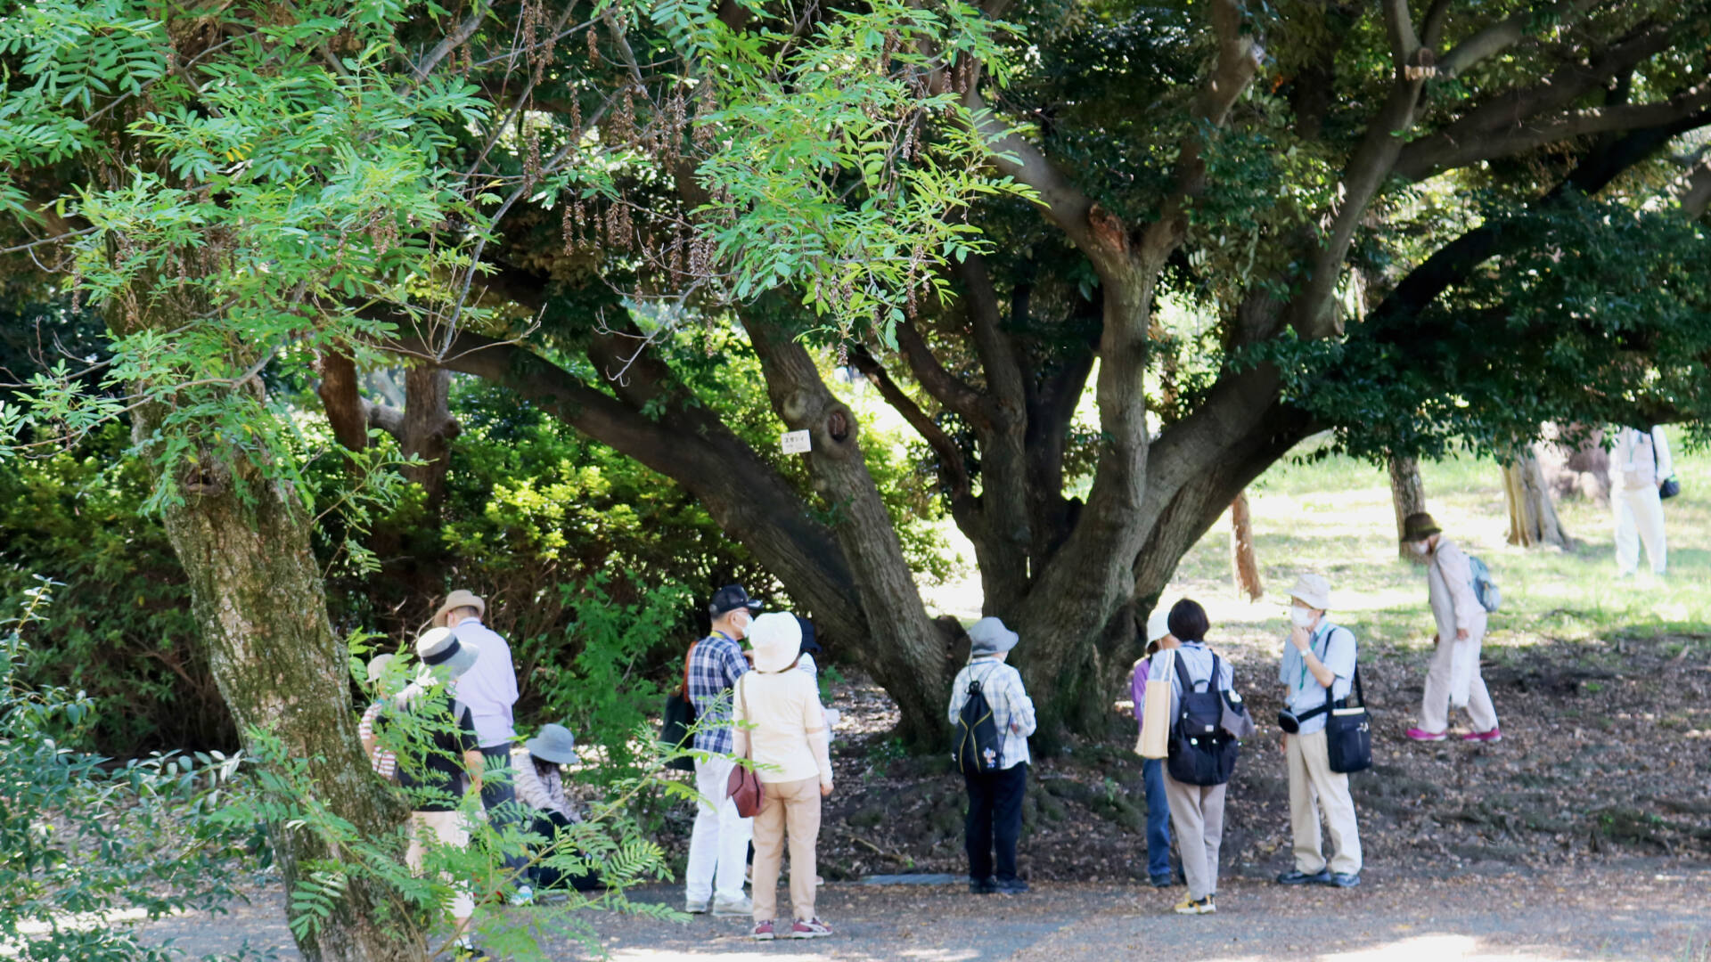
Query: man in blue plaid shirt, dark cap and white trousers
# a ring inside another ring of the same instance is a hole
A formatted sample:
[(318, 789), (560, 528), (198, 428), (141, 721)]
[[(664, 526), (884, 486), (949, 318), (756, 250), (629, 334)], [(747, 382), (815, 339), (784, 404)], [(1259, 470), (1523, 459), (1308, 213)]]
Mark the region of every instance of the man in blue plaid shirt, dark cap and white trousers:
[(683, 873), (686, 912), (705, 912), (708, 900), (715, 916), (748, 917), (755, 911), (743, 895), (755, 820), (739, 818), (736, 803), (725, 798), (734, 762), (724, 755), (731, 753), (731, 686), (749, 668), (739, 642), (756, 611), (760, 603), (749, 599), (743, 585), (715, 591), (707, 604), (713, 632), (695, 642), (690, 652), (690, 702), (700, 726), (695, 733), (695, 791), (702, 801), (696, 803), (690, 864)]

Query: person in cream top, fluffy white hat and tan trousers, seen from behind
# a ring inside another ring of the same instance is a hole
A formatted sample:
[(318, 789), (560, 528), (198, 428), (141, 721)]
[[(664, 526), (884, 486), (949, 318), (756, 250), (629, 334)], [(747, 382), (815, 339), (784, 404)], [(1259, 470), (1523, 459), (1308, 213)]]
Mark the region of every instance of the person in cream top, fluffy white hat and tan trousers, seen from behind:
[[(761, 784), (755, 815), (753, 938), (821, 938), (832, 926), (814, 916), (814, 844), (820, 839), (820, 799), (832, 794), (832, 755), (826, 712), (813, 676), (797, 671), (802, 630), (794, 615), (761, 615), (749, 628), (755, 668), (737, 678), (732, 743), (755, 763)], [(779, 868), (790, 839), (790, 914), (775, 928)]]

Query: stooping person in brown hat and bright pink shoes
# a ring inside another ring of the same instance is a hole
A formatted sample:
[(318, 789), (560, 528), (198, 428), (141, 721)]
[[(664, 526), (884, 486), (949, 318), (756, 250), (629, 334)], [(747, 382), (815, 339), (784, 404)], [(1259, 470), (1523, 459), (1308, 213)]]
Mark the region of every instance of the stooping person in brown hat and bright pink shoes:
[(1444, 741), (1449, 738), (1449, 709), (1465, 707), (1473, 731), (1463, 734), (1463, 741), (1501, 741), (1497, 709), (1480, 678), (1485, 606), (1473, 589), (1473, 563), (1425, 512), (1403, 520), (1401, 539), (1425, 563), (1432, 620), (1437, 621), (1432, 666), (1420, 698), (1420, 724), (1406, 734), (1413, 741)]

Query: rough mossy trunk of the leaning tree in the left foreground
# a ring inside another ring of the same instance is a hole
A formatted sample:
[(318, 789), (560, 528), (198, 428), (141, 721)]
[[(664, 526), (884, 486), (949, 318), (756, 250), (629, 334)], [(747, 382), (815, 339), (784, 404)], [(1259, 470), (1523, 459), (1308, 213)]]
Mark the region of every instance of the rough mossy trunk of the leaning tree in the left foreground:
[[(258, 389), (255, 389), (258, 390)], [(133, 414), (133, 436), (151, 443), (161, 411)], [(151, 447), (157, 447), (152, 442)], [(346, 650), (327, 621), (310, 515), (296, 493), (250, 464), (202, 454), (178, 483), (181, 505), (164, 512), (166, 534), (190, 579), (209, 664), (240, 733), (272, 731), (306, 760), (318, 796), (371, 839), (397, 830), (406, 811), (375, 779), (356, 738)], [(293, 887), (301, 866), (329, 858), (315, 839), (272, 825), (274, 854)], [(399, 904), (352, 882), (320, 929), (298, 941), (315, 962), (419, 962), (424, 948), (378, 919)]]

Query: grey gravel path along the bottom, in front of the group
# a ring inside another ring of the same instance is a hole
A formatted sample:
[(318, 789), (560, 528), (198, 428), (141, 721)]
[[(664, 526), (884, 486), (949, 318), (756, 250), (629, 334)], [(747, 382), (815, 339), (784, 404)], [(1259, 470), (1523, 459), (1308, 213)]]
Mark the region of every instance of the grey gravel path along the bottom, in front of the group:
[[(1593, 871), (1396, 878), (1369, 870), (1352, 892), (1285, 890), (1225, 880), (1218, 914), (1169, 912), (1181, 890), (1040, 885), (1030, 895), (970, 897), (951, 885), (826, 885), (820, 914), (838, 935), (758, 945), (741, 919), (676, 926), (594, 919), (616, 962), (1711, 962), (1711, 866), (1634, 864)], [(678, 888), (638, 900), (676, 904)], [(193, 955), (248, 940), (298, 959), (277, 894), (231, 916), (149, 926)], [(589, 959), (554, 945), (553, 959)]]

